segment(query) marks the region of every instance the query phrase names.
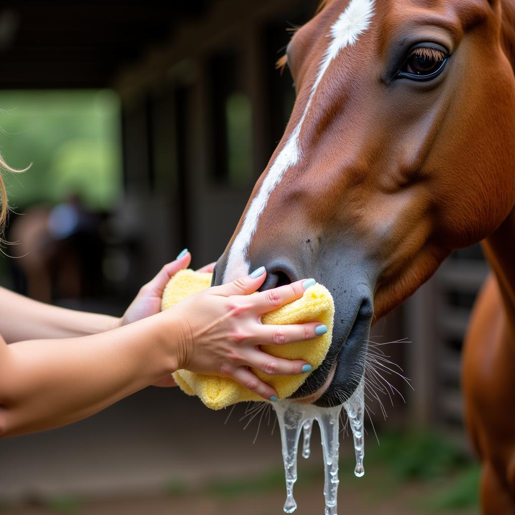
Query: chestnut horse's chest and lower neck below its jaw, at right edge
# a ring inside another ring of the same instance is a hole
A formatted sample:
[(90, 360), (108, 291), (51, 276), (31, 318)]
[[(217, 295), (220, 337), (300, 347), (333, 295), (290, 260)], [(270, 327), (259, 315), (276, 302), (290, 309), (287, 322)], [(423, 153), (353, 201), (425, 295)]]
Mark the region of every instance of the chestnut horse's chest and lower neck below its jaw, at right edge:
[(515, 514), (515, 210), (483, 248), (493, 273), (480, 292), (462, 362), (466, 423), (482, 463), (484, 513)]

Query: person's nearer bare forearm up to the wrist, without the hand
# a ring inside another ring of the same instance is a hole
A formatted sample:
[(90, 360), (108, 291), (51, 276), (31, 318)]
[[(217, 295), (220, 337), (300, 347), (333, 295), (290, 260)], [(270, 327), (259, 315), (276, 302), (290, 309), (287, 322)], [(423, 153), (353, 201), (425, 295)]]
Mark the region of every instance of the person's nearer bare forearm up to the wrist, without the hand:
[(82, 419), (178, 368), (181, 333), (162, 314), (68, 340), (0, 342), (0, 431)]

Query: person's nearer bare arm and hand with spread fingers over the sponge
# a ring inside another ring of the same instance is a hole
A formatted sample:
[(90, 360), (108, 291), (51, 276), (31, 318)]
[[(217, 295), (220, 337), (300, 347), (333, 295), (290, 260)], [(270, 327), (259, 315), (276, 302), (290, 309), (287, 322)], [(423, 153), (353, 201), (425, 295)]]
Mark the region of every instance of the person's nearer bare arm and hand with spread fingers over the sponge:
[(300, 298), (306, 286), (298, 281), (250, 295), (265, 277), (208, 288), (165, 312), (96, 335), (0, 341), (0, 433), (82, 419), (179, 368), (232, 377), (274, 400), (277, 392), (248, 367), (286, 375), (307, 364), (270, 356), (260, 345), (314, 338), (318, 324), (262, 324), (263, 313)]

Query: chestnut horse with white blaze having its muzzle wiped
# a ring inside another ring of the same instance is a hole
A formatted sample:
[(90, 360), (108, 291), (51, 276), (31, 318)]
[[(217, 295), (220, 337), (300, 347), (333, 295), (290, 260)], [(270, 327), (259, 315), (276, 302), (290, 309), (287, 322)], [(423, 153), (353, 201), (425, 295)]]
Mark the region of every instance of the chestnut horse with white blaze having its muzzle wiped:
[(286, 54), (293, 113), (215, 282), (265, 265), (264, 288), (332, 291), (330, 351), (293, 396), (329, 406), (361, 379), (371, 323), (483, 241), (467, 424), (484, 513), (515, 513), (515, 0), (326, 0)]

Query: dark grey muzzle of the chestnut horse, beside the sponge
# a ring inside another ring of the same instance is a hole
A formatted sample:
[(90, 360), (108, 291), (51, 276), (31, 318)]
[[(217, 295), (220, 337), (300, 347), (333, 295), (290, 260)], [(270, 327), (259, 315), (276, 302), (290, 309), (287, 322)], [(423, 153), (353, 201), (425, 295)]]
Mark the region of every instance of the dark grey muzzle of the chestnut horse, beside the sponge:
[[(333, 295), (335, 317), (331, 347), (322, 364), (290, 397), (298, 402), (321, 407), (345, 402), (361, 381), (374, 313), (373, 264), (354, 258), (357, 255), (354, 252), (348, 253), (348, 259), (342, 259), (340, 252), (334, 255), (338, 257), (331, 258), (329, 253), (325, 253), (321, 263), (311, 264), (294, 265), (284, 261), (259, 260), (260, 264), (266, 263), (268, 272), (260, 288), (262, 290), (313, 277)], [(252, 260), (251, 267), (255, 264), (253, 261), (258, 263), (258, 260)], [(215, 270), (213, 284), (221, 284), (225, 263), (225, 256), (222, 256)]]

